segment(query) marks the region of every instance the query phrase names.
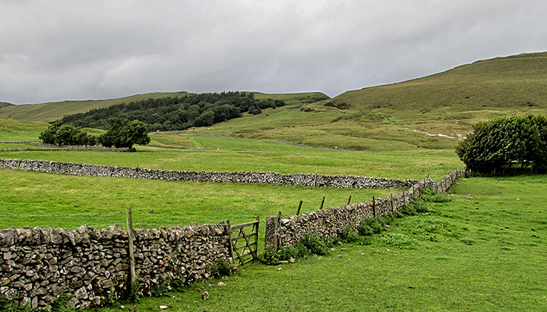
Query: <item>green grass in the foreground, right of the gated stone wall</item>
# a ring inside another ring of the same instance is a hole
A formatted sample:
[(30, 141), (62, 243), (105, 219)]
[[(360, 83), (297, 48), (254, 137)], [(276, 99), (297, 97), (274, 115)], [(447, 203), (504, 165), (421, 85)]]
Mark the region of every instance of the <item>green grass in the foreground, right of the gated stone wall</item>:
[[(374, 235), (372, 245), (346, 244), (276, 267), (251, 264), (237, 277), (220, 279), (226, 286), (197, 283), (134, 308), (545, 311), (547, 210), (537, 203), (546, 200), (546, 182), (545, 175), (462, 179), (450, 190), (450, 202), (398, 219)], [(201, 299), (205, 290), (208, 301)]]

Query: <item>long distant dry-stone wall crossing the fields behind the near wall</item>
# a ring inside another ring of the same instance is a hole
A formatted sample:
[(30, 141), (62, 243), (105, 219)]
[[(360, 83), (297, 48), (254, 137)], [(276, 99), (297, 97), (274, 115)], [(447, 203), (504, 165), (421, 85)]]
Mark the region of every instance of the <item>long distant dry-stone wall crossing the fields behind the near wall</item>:
[(0, 168), (94, 177), (126, 177), (180, 182), (235, 182), (248, 184), (279, 184), (293, 186), (323, 186), (350, 189), (408, 189), (417, 180), (385, 179), (354, 175), (277, 174), (275, 172), (191, 172), (142, 169), (107, 165), (89, 165), (47, 160), (0, 159)]

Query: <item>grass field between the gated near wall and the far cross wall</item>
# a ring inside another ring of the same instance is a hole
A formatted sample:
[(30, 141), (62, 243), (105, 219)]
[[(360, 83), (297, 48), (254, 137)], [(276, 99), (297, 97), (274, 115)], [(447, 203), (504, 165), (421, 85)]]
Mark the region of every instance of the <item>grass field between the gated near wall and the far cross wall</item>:
[[(183, 226), (189, 221), (215, 224), (230, 219), (232, 224), (253, 221), (256, 216), (315, 211), (325, 196), (325, 208), (386, 197), (394, 189), (332, 189), (264, 184), (168, 182), (109, 177), (78, 177), (64, 174), (0, 169), (0, 206), (9, 215), (58, 215), (121, 212), (119, 216), (0, 217), (0, 228), (77, 227), (125, 223), (128, 206), (140, 213), (135, 223), (142, 228)], [(172, 216), (161, 216), (163, 214)], [(139, 220), (140, 219), (140, 220)]]

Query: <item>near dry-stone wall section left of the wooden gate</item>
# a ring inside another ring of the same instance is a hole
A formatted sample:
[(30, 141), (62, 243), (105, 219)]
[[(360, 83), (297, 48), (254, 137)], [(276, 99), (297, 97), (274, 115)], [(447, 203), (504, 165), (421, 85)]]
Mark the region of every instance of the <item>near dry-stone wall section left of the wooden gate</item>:
[[(227, 225), (134, 230), (135, 268), (141, 293), (164, 277), (195, 282), (210, 277), (229, 258)], [(129, 280), (128, 232), (111, 226), (0, 230), (0, 296), (31, 308), (47, 308), (72, 291), (79, 308), (117, 299)]]

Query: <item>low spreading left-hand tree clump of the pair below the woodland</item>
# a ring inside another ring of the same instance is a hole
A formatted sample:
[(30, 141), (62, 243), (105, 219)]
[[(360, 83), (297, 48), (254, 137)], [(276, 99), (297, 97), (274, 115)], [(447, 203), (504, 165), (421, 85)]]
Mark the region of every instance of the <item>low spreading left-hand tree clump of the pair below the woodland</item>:
[(38, 137), (42, 143), (55, 145), (96, 145), (97, 138), (87, 134), (82, 129), (65, 125), (63, 121), (55, 121)]

